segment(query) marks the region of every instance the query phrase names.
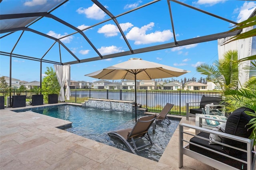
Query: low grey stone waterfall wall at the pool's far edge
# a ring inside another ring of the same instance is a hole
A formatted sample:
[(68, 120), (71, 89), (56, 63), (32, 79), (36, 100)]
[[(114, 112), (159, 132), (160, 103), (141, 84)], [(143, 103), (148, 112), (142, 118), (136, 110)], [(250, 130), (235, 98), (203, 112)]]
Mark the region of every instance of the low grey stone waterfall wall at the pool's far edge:
[[(83, 107), (110, 109), (121, 112), (135, 112), (134, 101), (122, 101), (122, 100), (108, 100), (108, 99), (88, 99), (82, 103)], [(141, 108), (141, 105), (137, 107), (137, 113), (143, 114), (147, 111), (146, 108)]]

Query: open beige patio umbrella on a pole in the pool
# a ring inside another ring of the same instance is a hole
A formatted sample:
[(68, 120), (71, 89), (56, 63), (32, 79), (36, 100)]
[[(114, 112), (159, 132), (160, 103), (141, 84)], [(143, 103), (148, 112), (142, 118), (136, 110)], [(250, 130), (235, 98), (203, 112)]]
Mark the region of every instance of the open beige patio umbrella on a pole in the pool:
[(168, 77), (178, 77), (190, 71), (162, 65), (140, 58), (130, 58), (128, 61), (95, 71), (85, 76), (106, 80), (135, 80), (135, 121), (137, 119), (136, 80), (151, 80)]

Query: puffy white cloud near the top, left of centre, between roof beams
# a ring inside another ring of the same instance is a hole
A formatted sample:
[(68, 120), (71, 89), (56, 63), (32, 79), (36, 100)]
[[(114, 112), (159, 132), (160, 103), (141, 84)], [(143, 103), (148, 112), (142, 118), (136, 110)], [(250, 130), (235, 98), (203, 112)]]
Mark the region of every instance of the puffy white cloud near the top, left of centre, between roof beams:
[[(107, 6), (104, 7), (108, 8)], [(86, 18), (91, 18), (95, 20), (102, 20), (106, 16), (106, 13), (102, 11), (96, 4), (93, 4), (89, 8), (78, 8), (76, 12), (78, 12), (78, 14), (85, 14)]]

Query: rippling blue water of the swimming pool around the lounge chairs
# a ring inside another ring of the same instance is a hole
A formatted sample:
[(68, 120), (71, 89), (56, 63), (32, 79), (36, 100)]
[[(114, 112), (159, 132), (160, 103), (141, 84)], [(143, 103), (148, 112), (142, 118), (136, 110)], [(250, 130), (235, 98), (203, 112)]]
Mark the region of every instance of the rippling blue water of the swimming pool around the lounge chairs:
[[(135, 114), (85, 108), (76, 105), (52, 105), (14, 111), (33, 111), (71, 121), (72, 127), (66, 129), (66, 131), (130, 152), (126, 145), (120, 142), (119, 139), (110, 138), (107, 133), (122, 128), (132, 128), (135, 124)], [(137, 115), (137, 118), (140, 116), (143, 115)], [(180, 122), (180, 119), (176, 118), (170, 120), (172, 122), (170, 125), (168, 123), (157, 123), (155, 132), (153, 132), (152, 127), (149, 129), (149, 135), (155, 144), (150, 148), (136, 152), (138, 155), (155, 161), (160, 159)]]

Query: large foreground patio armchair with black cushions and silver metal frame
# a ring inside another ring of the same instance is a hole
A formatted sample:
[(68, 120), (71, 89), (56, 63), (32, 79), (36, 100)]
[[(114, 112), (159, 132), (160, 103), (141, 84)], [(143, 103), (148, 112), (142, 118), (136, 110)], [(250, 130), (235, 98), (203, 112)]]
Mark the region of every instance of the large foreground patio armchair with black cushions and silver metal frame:
[[(216, 119), (204, 116), (200, 117), (199, 127), (180, 124), (179, 168), (183, 166), (183, 155), (187, 155), (216, 169), (255, 170), (256, 155), (253, 140), (249, 139), (252, 128), (247, 125), (253, 117), (247, 115), (246, 111), (254, 113), (251, 109), (241, 107), (226, 121), (218, 120), (221, 124), (212, 129), (203, 124), (202, 119)], [(190, 130), (186, 130), (188, 128)]]

